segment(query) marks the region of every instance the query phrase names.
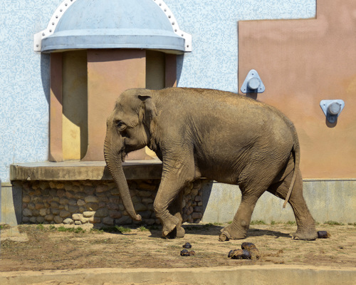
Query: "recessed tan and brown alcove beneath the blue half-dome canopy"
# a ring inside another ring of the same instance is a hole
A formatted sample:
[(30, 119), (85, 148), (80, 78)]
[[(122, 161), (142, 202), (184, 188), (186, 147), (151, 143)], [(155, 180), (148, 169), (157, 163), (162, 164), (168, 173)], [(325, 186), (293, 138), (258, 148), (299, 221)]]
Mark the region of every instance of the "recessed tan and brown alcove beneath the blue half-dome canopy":
[[(51, 54), (51, 161), (104, 160), (106, 119), (128, 88), (177, 84), (176, 56), (159, 51), (103, 49)], [(146, 147), (127, 160), (155, 157)]]

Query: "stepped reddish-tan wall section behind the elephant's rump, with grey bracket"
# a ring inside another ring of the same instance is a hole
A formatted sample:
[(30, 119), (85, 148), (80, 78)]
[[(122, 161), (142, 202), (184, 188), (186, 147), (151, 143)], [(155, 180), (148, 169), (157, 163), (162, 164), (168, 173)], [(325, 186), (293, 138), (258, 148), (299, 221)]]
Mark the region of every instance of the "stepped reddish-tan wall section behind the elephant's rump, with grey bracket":
[[(295, 123), (304, 178), (356, 177), (356, 1), (318, 0), (316, 19), (239, 22), (239, 88), (256, 69), (258, 100)], [(320, 100), (342, 99), (330, 125)]]

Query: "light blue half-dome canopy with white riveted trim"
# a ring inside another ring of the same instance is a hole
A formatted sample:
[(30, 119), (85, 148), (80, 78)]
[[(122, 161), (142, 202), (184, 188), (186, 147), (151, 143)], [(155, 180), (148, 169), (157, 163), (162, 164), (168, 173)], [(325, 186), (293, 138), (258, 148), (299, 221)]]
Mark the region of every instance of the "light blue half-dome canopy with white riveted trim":
[(182, 53), (191, 51), (191, 41), (162, 0), (66, 0), (46, 30), (36, 33), (35, 50), (144, 48)]

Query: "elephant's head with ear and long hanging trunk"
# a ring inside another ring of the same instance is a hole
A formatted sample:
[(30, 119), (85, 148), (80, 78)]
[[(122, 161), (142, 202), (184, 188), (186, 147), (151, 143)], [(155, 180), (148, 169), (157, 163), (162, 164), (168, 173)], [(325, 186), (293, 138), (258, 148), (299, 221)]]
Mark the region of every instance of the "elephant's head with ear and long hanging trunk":
[(107, 120), (104, 144), (105, 162), (120, 192), (126, 212), (136, 221), (141, 220), (135, 212), (130, 190), (122, 170), (127, 153), (139, 150), (150, 142), (150, 125), (157, 115), (152, 91), (131, 89), (120, 95)]

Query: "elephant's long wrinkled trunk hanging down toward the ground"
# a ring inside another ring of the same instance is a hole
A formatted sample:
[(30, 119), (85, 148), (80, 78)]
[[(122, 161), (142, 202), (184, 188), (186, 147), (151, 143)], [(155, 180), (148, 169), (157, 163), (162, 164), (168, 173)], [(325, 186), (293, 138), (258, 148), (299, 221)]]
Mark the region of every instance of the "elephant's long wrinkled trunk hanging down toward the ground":
[(112, 179), (114, 180), (117, 189), (120, 192), (122, 203), (124, 204), (127, 214), (129, 214), (130, 217), (135, 221), (141, 221), (142, 218), (140, 214), (135, 212), (135, 208), (132, 204), (130, 190), (127, 185), (124, 171), (122, 170), (122, 146), (114, 146), (111, 132), (112, 130), (108, 125), (104, 144), (104, 156), (106, 165), (108, 166), (108, 170), (112, 176)]

